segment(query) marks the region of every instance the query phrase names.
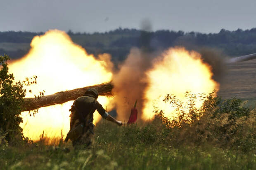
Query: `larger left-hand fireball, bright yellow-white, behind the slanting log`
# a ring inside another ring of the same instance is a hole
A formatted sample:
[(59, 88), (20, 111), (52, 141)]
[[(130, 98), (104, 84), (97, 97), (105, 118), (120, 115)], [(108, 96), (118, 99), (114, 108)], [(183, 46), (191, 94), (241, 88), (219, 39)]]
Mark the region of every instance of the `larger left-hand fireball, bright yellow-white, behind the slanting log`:
[[(85, 49), (74, 44), (65, 32), (49, 30), (45, 35), (34, 37), (29, 53), (10, 63), (9, 70), (18, 80), (38, 76), (37, 84), (28, 87), (32, 93), (27, 93), (26, 97), (38, 95), (39, 91), (43, 90), (45, 95), (49, 95), (109, 82), (112, 73), (106, 65), (110, 57), (103, 54), (100, 58), (103, 60), (97, 61), (92, 55), (88, 55)], [(108, 109), (111, 108), (110, 100), (103, 96), (98, 98)], [(21, 127), (24, 135), (32, 140), (38, 140), (43, 131), (50, 138), (58, 137), (61, 131), (66, 135), (69, 131), (69, 108), (72, 103), (73, 101), (69, 101), (62, 105), (40, 108), (35, 117), (28, 116), (28, 112), (22, 112), (24, 123), (21, 123)], [(99, 114), (95, 113), (94, 123), (99, 120)]]

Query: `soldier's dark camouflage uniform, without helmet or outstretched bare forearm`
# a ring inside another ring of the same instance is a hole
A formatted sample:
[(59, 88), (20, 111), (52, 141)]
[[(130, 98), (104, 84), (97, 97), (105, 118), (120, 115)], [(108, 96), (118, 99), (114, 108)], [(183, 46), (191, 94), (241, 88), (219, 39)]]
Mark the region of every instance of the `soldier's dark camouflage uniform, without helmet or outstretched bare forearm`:
[[(77, 98), (70, 111), (70, 129), (78, 126), (80, 123), (85, 123), (83, 128), (83, 134), (77, 139), (73, 140), (73, 146), (77, 144), (85, 144), (88, 147), (91, 144), (91, 139), (93, 135), (93, 113), (97, 110), (100, 115), (105, 119), (108, 113), (97, 101), (97, 97), (94, 95), (86, 95)], [(83, 118), (81, 118), (83, 116)], [(85, 120), (85, 121), (84, 121)]]

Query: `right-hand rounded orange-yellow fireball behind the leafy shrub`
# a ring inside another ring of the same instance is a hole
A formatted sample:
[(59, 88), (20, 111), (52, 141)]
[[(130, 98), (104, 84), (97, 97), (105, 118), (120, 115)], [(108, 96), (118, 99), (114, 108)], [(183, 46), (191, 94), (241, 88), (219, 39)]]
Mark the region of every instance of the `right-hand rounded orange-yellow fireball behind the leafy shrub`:
[[(142, 119), (145, 121), (154, 117), (154, 107), (163, 110), (164, 116), (169, 119), (176, 116), (174, 108), (163, 102), (166, 94), (176, 95), (185, 102), (186, 91), (208, 94), (219, 88), (219, 84), (212, 79), (211, 67), (203, 63), (201, 55), (182, 47), (165, 51), (154, 60), (153, 68), (146, 75), (148, 86), (142, 110)], [(198, 100), (196, 107), (200, 107), (202, 102)]]

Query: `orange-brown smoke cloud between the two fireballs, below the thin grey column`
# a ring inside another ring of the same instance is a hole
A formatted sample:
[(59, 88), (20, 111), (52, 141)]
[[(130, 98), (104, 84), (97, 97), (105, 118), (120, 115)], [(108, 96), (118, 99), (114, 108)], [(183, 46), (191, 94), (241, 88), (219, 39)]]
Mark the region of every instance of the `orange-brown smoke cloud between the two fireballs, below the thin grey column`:
[(120, 66), (119, 72), (114, 74), (113, 92), (115, 94), (116, 111), (118, 119), (127, 120), (130, 115), (130, 109), (133, 107), (136, 99), (137, 109), (142, 110), (142, 93), (146, 86), (143, 77), (145, 77), (145, 59), (140, 49), (131, 49), (126, 61)]

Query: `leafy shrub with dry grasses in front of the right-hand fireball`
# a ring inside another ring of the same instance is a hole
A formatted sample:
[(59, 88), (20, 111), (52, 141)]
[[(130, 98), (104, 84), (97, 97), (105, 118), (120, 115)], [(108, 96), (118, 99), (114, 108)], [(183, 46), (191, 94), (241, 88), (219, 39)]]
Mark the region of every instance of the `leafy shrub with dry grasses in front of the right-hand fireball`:
[[(199, 96), (186, 93), (188, 102), (181, 102), (174, 95), (166, 95), (164, 101), (175, 107), (178, 116), (168, 119), (156, 109), (156, 119), (170, 130), (176, 145), (212, 143), (218, 147), (256, 149), (256, 109), (243, 107), (244, 101), (232, 98), (221, 100), (214, 93)], [(195, 101), (203, 100), (200, 108)]]

